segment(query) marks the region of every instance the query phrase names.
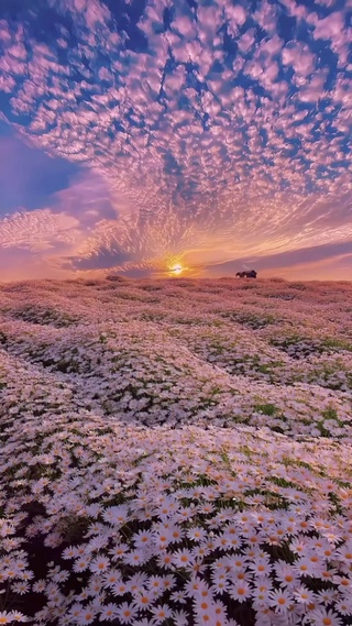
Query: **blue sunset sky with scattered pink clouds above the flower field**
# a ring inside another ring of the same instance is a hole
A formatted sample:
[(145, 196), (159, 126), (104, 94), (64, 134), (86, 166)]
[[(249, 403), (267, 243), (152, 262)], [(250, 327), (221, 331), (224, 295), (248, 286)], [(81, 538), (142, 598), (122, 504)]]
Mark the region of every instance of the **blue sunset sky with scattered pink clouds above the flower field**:
[(352, 279), (352, 0), (1, 0), (0, 282)]

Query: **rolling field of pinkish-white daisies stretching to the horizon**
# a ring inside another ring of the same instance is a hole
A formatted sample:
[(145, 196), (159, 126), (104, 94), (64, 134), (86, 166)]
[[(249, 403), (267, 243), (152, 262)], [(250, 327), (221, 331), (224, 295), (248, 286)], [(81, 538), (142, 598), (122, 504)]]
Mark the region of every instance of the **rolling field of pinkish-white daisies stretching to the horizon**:
[(352, 283), (0, 285), (0, 624), (352, 624)]

